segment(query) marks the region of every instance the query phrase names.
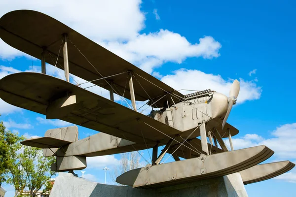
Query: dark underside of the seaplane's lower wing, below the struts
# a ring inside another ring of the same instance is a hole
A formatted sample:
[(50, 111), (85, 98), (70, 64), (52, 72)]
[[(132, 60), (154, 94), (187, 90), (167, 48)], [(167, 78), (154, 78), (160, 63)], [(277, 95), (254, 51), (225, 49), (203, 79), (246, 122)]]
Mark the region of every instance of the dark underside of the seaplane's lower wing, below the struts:
[(67, 94), (75, 95), (78, 104), (61, 120), (129, 141), (147, 143), (148, 146), (151, 145), (149, 147), (154, 146), (156, 141), (165, 144), (169, 140), (168, 136), (174, 137), (181, 133), (144, 114), (56, 77), (21, 72), (0, 80), (1, 99), (40, 114), (46, 114), (50, 102)]

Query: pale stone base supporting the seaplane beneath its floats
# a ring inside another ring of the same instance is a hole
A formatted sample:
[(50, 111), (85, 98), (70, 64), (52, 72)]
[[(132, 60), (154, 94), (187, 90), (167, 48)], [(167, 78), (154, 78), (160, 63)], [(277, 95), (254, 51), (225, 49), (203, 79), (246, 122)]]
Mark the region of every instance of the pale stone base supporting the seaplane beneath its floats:
[(158, 189), (105, 185), (59, 173), (49, 197), (248, 197), (239, 173)]

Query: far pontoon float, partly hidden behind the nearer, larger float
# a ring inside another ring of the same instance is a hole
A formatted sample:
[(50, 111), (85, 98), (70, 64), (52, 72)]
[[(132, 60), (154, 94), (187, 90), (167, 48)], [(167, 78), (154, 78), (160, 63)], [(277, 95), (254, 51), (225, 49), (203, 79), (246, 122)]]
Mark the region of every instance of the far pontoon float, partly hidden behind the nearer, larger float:
[(260, 164), (240, 171), (245, 185), (265, 181), (291, 170), (295, 164), (290, 161)]

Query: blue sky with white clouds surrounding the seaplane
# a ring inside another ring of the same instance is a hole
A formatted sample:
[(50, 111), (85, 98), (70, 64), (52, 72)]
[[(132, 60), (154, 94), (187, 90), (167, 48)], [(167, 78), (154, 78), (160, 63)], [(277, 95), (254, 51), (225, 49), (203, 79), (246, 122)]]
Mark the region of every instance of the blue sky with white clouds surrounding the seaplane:
[[(11, 0), (1, 6), (0, 16), (16, 9), (38, 10), (60, 20), (175, 89), (211, 88), (227, 95), (232, 80), (239, 79), (238, 104), (227, 121), (240, 131), (233, 137), (234, 148), (265, 144), (275, 151), (268, 162), (296, 161), (294, 1)], [(34, 71), (40, 70), (39, 60), (33, 65)], [(53, 66), (47, 69), (59, 77)], [(31, 56), (0, 40), (0, 78), (26, 70), (32, 70)], [(100, 94), (98, 89), (91, 91)], [(108, 97), (104, 90), (103, 96)], [(6, 127), (27, 136), (69, 125), (2, 100), (0, 107)], [(80, 138), (94, 133), (79, 127)], [(149, 157), (147, 151), (142, 154)], [(112, 169), (119, 159), (92, 158), (85, 174), (104, 182), (102, 168)], [(111, 182), (109, 174), (107, 180)], [(246, 189), (250, 197), (291, 196), (295, 184), (293, 169)], [(4, 188), (7, 197), (14, 194), (10, 186)]]

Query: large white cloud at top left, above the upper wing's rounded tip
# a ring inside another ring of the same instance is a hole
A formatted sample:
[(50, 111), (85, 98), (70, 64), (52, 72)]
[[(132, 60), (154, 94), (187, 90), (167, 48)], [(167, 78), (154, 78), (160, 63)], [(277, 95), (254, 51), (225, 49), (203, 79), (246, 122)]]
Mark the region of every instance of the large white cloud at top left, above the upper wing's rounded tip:
[(145, 27), (140, 4), (141, 0), (10, 0), (1, 5), (0, 16), (17, 9), (37, 10), (86, 36), (129, 39)]

